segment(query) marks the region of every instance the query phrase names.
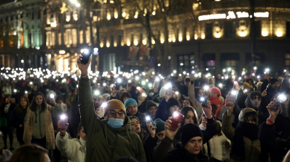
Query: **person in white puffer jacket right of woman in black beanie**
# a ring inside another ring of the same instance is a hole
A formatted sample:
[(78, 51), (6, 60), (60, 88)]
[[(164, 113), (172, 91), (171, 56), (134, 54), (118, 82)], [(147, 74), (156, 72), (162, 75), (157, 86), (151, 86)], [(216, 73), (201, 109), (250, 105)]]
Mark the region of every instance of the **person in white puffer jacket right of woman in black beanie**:
[[(199, 128), (206, 129), (206, 119), (202, 118)], [(220, 161), (230, 159), (230, 140), (222, 132), (222, 123), (217, 120), (219, 133), (213, 136), (207, 143), (203, 145), (205, 154)]]

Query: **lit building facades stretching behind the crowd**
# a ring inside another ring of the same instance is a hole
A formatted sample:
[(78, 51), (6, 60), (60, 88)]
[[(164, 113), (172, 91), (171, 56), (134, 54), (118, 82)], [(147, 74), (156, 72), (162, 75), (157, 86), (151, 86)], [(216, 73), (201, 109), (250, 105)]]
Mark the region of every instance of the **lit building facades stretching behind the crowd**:
[(87, 48), (94, 50), (92, 71), (158, 72), (165, 66), (170, 71), (217, 74), (229, 67), (241, 72), (253, 66), (272, 71), (290, 66), (287, 0), (89, 2), (12, 1), (0, 6), (9, 10), (2, 12), (0, 22), (13, 16), (13, 21), (21, 20), (13, 26), (18, 36), (14, 45), (38, 58), (35, 65), (42, 62), (57, 71), (76, 71), (76, 59)]

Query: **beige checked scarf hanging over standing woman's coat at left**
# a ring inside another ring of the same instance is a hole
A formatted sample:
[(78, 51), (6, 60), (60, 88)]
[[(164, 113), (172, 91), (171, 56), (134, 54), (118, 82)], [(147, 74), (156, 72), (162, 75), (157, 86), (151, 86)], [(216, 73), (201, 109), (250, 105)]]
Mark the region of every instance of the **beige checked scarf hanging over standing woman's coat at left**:
[[(55, 149), (54, 129), (50, 110), (51, 106), (46, 104), (43, 114), (45, 121), (44, 126), (45, 126), (46, 147), (48, 150)], [(33, 113), (34, 112), (30, 108), (27, 109), (27, 120), (24, 124), (24, 134), (23, 134), (23, 141), (25, 142), (25, 144), (31, 144), (33, 133)]]

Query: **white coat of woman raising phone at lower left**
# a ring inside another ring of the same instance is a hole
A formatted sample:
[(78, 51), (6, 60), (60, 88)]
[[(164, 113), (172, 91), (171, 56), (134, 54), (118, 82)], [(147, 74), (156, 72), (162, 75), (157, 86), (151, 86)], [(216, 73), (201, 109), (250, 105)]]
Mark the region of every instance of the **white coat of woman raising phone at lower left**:
[(82, 138), (68, 139), (68, 134), (60, 136), (60, 132), (56, 134), (55, 144), (58, 150), (67, 157), (69, 162), (85, 161), (86, 142)]

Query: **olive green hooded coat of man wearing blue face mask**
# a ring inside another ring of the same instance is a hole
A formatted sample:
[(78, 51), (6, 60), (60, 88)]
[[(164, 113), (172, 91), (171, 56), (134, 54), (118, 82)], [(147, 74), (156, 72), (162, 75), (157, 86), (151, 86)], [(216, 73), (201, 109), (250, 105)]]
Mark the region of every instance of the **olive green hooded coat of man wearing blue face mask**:
[(114, 129), (107, 120), (99, 120), (94, 111), (89, 77), (80, 78), (78, 84), (79, 109), (86, 133), (86, 160), (114, 161), (124, 156), (140, 162), (146, 155), (138, 134), (131, 130), (131, 120), (125, 117), (124, 126)]

